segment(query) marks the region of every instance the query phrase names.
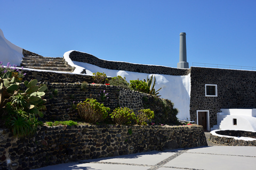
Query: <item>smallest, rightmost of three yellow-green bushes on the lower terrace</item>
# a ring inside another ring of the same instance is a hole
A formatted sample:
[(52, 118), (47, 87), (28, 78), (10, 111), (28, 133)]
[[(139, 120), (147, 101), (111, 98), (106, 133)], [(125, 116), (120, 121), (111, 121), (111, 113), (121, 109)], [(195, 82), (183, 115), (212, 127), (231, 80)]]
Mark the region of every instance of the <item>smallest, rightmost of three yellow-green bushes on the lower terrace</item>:
[(150, 109), (141, 109), (138, 112), (139, 114), (136, 118), (138, 125), (147, 125), (147, 123), (155, 116), (154, 111), (151, 111)]

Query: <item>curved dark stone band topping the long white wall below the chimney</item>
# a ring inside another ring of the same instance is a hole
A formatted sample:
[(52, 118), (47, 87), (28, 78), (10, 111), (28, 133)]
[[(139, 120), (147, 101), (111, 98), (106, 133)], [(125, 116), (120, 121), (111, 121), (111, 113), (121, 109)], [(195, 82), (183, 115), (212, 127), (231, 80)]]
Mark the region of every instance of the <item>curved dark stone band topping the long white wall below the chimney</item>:
[(143, 65), (143, 64), (133, 64), (126, 62), (114, 62), (101, 60), (91, 54), (73, 51), (69, 54), (72, 61), (89, 63), (97, 65), (101, 68), (110, 70), (124, 70), (132, 71), (138, 73), (148, 73), (148, 74), (167, 74), (167, 75), (188, 75), (190, 69), (176, 69), (166, 66), (158, 65)]

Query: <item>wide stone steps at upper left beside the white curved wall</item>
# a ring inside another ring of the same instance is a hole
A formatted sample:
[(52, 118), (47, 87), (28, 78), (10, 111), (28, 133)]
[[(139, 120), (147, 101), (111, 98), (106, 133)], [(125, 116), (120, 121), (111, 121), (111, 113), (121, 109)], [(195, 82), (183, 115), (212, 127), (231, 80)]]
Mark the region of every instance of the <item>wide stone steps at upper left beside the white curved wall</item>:
[(62, 57), (43, 57), (40, 55), (26, 55), (23, 54), (21, 66), (29, 69), (38, 70), (53, 70), (63, 72), (73, 72), (74, 67), (71, 67), (65, 62)]

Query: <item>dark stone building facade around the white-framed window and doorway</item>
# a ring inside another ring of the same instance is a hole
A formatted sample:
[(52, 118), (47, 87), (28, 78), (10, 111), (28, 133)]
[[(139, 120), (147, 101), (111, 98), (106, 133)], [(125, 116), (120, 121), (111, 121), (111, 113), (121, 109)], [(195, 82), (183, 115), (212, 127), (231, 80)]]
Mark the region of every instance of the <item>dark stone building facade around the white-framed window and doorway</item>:
[[(191, 67), (190, 119), (209, 110), (210, 127), (221, 108), (256, 108), (256, 71)], [(217, 84), (218, 97), (205, 96), (205, 84)]]

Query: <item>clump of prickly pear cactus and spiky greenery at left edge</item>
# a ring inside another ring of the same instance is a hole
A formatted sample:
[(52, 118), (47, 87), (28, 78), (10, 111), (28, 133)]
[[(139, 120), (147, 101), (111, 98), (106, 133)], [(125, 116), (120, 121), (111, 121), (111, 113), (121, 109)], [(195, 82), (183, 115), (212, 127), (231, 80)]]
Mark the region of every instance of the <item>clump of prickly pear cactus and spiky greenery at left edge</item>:
[(24, 82), (27, 89), (23, 92), (19, 89), (19, 83), (15, 81), (11, 71), (7, 71), (2, 78), (0, 78), (2, 121), (15, 136), (33, 135), (37, 126), (41, 124), (36, 116), (43, 117), (41, 111), (46, 109), (43, 105), (46, 100), (42, 97), (47, 87), (36, 86), (37, 80), (34, 79)]

